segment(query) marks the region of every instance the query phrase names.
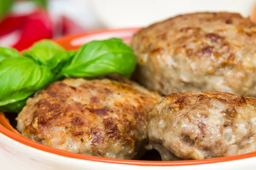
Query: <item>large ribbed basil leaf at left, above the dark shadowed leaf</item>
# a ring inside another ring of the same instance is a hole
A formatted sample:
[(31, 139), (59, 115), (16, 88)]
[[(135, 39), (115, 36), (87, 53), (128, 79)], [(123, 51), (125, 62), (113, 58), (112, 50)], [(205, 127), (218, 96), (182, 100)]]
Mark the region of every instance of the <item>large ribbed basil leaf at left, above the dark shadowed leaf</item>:
[(0, 62), (0, 106), (8, 105), (45, 88), (53, 80), (50, 68), (26, 57)]

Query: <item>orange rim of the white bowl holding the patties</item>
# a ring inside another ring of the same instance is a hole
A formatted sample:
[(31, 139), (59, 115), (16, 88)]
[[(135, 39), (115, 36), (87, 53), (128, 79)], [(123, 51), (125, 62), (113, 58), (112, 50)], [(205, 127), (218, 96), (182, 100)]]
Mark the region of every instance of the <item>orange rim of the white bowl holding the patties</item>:
[[(86, 37), (89, 35), (96, 35), (100, 33), (114, 33), (116, 31), (128, 31), (136, 33), (139, 31), (140, 28), (127, 28), (127, 29), (115, 29), (115, 30), (99, 30), (93, 31), (85, 34), (78, 34), (73, 36), (68, 36), (64, 38), (60, 38), (55, 40), (57, 43), (62, 45), (67, 50), (77, 49), (70, 42), (79, 37)], [(104, 162), (104, 163), (113, 163), (113, 164), (126, 164), (126, 165), (139, 165), (139, 166), (187, 166), (187, 165), (200, 165), (200, 164), (211, 164), (211, 163), (220, 163), (226, 161), (235, 161), (239, 159), (246, 159), (252, 158), (256, 156), (256, 152), (253, 153), (245, 153), (236, 156), (227, 156), (222, 158), (215, 158), (215, 159), (203, 159), (203, 160), (189, 160), (189, 161), (140, 161), (140, 160), (124, 160), (124, 159), (110, 159), (110, 158), (102, 158), (97, 156), (87, 156), (81, 155), (78, 153), (71, 153), (64, 150), (58, 150), (52, 147), (48, 147), (43, 144), (39, 144), (33, 142), (32, 140), (27, 139), (26, 137), (22, 136), (20, 133), (15, 130), (12, 125), (9, 124), (8, 120), (6, 119), (3, 112), (0, 112), (0, 133), (3, 135), (25, 144), (29, 147), (33, 147), (38, 150), (42, 150), (48, 153), (53, 153), (59, 156), (64, 156), (73, 159), (81, 159), (87, 161), (95, 161), (95, 162)]]

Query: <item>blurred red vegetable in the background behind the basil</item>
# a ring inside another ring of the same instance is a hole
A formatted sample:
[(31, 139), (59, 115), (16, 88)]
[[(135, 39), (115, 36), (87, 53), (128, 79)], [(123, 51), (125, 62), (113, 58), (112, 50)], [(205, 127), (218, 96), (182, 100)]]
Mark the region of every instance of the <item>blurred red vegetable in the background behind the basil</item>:
[(21, 16), (10, 14), (5, 17), (0, 23), (0, 41), (6, 34), (12, 34), (14, 31), (20, 34), (15, 34), (16, 40), (12, 38), (15, 44), (11, 46), (21, 51), (38, 40), (52, 38), (53, 25), (47, 11), (38, 9)]

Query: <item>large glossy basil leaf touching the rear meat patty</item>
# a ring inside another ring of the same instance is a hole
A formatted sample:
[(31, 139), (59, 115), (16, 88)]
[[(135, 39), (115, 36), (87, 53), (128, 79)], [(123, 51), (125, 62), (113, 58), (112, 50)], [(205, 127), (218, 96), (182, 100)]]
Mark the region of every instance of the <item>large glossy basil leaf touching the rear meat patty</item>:
[(60, 74), (65, 77), (98, 77), (117, 73), (130, 77), (136, 61), (133, 49), (121, 39), (91, 41), (81, 46)]

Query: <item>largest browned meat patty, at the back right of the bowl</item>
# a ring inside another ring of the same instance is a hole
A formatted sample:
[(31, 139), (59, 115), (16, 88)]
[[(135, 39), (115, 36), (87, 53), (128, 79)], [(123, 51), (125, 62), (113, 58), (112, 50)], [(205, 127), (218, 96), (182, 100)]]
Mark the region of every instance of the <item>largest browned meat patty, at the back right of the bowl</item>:
[(143, 28), (131, 46), (134, 76), (167, 95), (224, 91), (256, 96), (256, 24), (240, 14), (195, 13)]

